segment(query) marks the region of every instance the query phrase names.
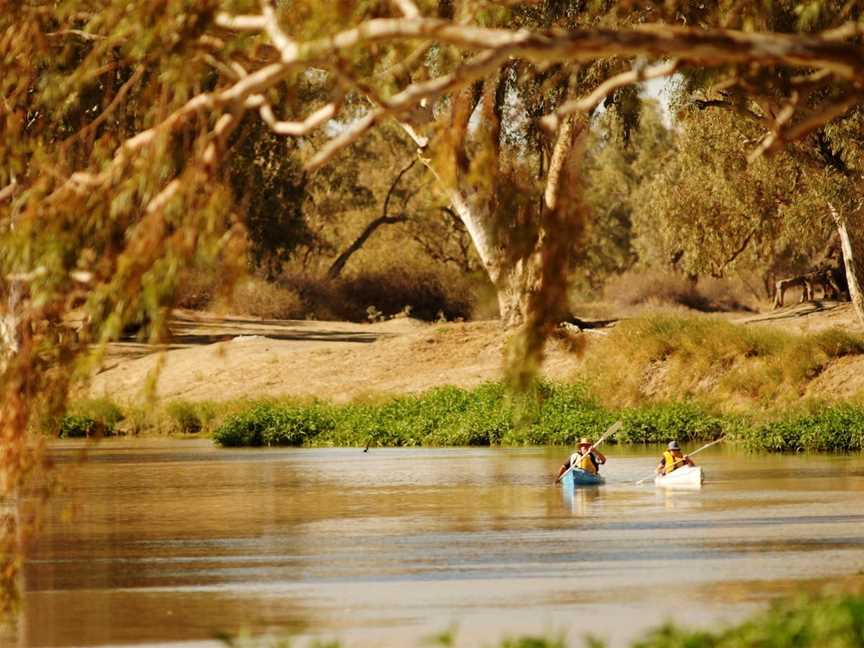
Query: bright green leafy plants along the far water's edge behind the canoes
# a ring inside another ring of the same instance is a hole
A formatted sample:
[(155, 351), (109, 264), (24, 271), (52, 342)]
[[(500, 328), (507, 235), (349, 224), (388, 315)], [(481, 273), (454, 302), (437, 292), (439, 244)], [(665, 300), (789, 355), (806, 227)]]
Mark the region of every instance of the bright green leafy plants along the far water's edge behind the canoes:
[(851, 404), (811, 404), (816, 413), (798, 409), (766, 421), (694, 402), (605, 408), (581, 385), (543, 384), (538, 396), (525, 425), (514, 417), (514, 408), (525, 404), (514, 403), (497, 383), (347, 405), (258, 403), (229, 417), (213, 438), (224, 446), (572, 446), (581, 436), (599, 438), (620, 420), (623, 426), (609, 443), (699, 442), (725, 435), (772, 452), (864, 450), (864, 407)]

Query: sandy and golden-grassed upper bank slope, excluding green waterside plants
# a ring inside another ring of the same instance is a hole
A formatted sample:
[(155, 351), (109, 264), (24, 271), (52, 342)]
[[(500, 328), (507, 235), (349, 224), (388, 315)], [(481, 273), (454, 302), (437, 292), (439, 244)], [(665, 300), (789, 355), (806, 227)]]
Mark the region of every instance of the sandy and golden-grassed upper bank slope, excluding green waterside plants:
[[(598, 305), (579, 312), (616, 321), (568, 334), (585, 342), (581, 354), (572, 352), (570, 339), (550, 340), (541, 376), (591, 384), (609, 403), (698, 398), (735, 410), (864, 393), (864, 345), (847, 344), (860, 330), (848, 304), (759, 315)], [(109, 345), (77, 398), (138, 405), (285, 397), (347, 403), (504, 379), (506, 335), (497, 321), (351, 324), (182, 311), (171, 329), (165, 347), (131, 340)]]

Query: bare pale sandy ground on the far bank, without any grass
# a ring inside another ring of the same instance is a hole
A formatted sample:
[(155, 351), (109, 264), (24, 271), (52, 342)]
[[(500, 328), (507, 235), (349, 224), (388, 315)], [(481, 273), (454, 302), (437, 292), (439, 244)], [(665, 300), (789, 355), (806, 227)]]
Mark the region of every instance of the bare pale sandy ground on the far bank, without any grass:
[[(758, 315), (728, 315), (744, 326), (815, 332), (859, 330), (851, 305), (812, 303)], [(156, 394), (168, 400), (316, 396), (346, 401), (360, 395), (421, 392), (437, 385), (471, 387), (503, 375), (504, 336), (496, 321), (378, 324), (261, 320), (178, 312), (172, 343), (163, 348), (121, 342), (108, 350), (92, 396), (144, 397), (158, 371)], [(594, 337), (594, 336), (589, 336)], [(551, 342), (543, 373), (566, 380), (579, 358)], [(813, 381), (814, 395), (864, 389), (864, 358), (841, 358)]]

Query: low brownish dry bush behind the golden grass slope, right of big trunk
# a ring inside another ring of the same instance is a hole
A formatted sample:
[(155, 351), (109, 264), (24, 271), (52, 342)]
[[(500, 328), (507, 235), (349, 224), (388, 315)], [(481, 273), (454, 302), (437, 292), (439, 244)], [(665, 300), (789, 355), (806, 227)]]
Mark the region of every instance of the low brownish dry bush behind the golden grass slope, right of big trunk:
[(694, 283), (661, 270), (630, 271), (613, 277), (606, 282), (603, 298), (619, 306), (678, 305), (702, 312), (753, 310), (738, 282), (708, 278)]

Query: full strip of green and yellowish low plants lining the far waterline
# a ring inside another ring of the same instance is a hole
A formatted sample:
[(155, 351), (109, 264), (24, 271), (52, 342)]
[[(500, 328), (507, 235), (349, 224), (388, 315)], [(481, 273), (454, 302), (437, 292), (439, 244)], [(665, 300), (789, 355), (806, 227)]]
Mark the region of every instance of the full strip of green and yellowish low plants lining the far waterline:
[(134, 433), (137, 428), (212, 435), (222, 446), (416, 447), (572, 446), (598, 438), (615, 421), (610, 443), (670, 439), (729, 443), (770, 452), (864, 450), (864, 405), (807, 401), (795, 408), (726, 413), (708, 404), (655, 402), (608, 407), (581, 384), (542, 383), (513, 396), (502, 383), (472, 390), (441, 387), (420, 395), (347, 404), (315, 400), (173, 402), (164, 409), (126, 409), (110, 401), (79, 403), (60, 436)]

